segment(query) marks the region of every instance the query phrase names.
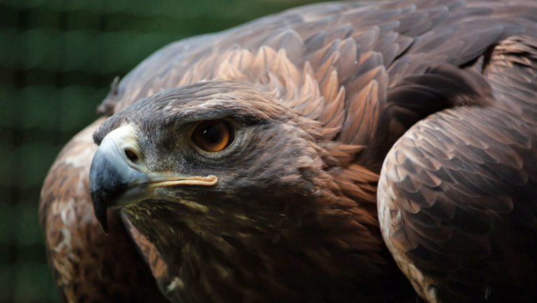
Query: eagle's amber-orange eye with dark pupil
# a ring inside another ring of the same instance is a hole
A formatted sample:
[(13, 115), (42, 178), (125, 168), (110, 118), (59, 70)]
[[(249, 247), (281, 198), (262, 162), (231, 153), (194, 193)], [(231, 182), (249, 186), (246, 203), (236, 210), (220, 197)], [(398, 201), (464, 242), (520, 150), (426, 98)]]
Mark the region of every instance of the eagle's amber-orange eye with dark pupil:
[(233, 128), (227, 121), (206, 120), (197, 124), (190, 140), (204, 151), (216, 152), (232, 144), (233, 135)]

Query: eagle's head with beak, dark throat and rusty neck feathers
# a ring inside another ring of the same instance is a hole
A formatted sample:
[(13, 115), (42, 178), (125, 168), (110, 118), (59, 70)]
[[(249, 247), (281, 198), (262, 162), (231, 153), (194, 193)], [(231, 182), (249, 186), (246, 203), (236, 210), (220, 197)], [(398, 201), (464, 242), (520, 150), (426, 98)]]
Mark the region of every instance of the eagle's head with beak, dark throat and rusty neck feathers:
[(363, 225), (375, 215), (341, 194), (335, 143), (319, 129), (246, 84), (162, 91), (93, 135), (95, 214), (106, 230), (107, 209), (121, 209), (190, 292), (355, 289), (368, 279), (356, 272), (383, 262)]

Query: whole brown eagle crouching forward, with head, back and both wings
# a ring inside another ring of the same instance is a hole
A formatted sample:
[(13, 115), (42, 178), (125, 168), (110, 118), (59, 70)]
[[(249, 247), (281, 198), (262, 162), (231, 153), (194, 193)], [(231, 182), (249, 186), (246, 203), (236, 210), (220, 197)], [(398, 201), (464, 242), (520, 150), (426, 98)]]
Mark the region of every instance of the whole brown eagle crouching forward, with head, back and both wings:
[(45, 180), (64, 299), (534, 301), (536, 45), (534, 1), (411, 0), (164, 47)]

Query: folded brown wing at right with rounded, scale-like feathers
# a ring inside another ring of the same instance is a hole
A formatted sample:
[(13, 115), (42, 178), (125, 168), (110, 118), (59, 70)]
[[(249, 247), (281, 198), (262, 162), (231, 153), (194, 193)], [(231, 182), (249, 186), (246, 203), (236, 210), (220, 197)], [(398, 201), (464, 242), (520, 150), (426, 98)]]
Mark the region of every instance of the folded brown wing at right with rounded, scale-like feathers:
[(513, 36), (491, 51), (483, 75), (493, 103), (432, 114), (386, 157), (384, 239), (431, 302), (537, 295), (536, 41)]

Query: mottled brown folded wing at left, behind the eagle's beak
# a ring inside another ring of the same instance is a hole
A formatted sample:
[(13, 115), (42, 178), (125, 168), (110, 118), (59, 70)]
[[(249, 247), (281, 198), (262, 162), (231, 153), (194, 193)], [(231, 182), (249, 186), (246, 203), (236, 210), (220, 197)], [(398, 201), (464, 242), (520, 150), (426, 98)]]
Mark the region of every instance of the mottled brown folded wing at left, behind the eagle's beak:
[(43, 183), (39, 207), (47, 257), (62, 302), (167, 302), (135, 253), (117, 214), (105, 235), (93, 215), (89, 165), (91, 134), (104, 119), (63, 148)]

